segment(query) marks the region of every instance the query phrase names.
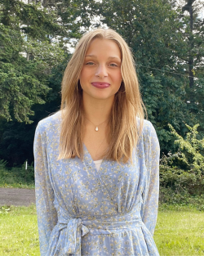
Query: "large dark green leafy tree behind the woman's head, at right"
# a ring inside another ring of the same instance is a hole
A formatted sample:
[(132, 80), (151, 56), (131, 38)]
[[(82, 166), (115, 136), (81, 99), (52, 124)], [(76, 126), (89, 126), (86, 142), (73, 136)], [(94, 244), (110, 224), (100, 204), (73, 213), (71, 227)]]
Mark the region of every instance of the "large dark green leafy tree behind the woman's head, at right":
[[(91, 11), (92, 16), (100, 15), (104, 25), (118, 31), (131, 47), (149, 119), (157, 128), (162, 150), (173, 150), (168, 123), (184, 136), (184, 122), (193, 125), (200, 119), (198, 110), (188, 108), (188, 78), (180, 58), (187, 46), (180, 9), (175, 8), (175, 1), (167, 0), (104, 0), (95, 3)], [(199, 34), (197, 38), (202, 39)], [(197, 46), (197, 51), (202, 47)], [(201, 90), (199, 94), (197, 88), (193, 94), (199, 98)]]

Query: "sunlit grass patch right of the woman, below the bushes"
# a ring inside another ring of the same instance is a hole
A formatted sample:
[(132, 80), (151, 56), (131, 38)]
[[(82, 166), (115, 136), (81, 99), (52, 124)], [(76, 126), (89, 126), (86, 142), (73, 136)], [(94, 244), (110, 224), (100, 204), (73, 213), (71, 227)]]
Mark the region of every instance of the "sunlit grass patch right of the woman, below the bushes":
[(154, 240), (161, 256), (204, 255), (204, 213), (188, 206), (160, 209)]

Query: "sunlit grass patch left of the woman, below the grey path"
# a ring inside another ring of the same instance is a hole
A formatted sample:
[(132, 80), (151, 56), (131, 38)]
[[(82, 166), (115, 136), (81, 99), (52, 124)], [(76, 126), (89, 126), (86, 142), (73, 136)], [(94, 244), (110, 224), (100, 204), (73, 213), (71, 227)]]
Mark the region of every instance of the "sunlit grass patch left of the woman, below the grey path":
[(35, 205), (0, 208), (0, 255), (39, 256)]

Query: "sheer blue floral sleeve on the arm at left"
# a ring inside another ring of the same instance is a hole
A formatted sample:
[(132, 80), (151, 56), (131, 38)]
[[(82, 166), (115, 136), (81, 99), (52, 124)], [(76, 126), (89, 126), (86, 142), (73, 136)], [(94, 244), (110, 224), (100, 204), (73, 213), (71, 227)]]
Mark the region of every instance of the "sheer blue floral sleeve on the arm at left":
[(54, 191), (47, 166), (46, 132), (38, 124), (34, 138), (35, 195), (41, 256), (47, 254), (51, 231), (57, 222)]

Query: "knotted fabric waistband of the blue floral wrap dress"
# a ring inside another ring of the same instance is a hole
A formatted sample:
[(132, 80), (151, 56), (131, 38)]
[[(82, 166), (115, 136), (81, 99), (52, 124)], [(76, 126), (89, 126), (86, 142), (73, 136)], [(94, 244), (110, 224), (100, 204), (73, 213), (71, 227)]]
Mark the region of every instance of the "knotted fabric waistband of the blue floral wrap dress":
[[(60, 231), (65, 231), (64, 256), (81, 256), (81, 239), (85, 235), (107, 235), (135, 227), (143, 227), (138, 210), (129, 213), (102, 216), (69, 216), (64, 209), (60, 209), (60, 216), (54, 228), (54, 236), (59, 237)], [(55, 240), (57, 243), (57, 240)], [(55, 253), (47, 254), (54, 256)]]

